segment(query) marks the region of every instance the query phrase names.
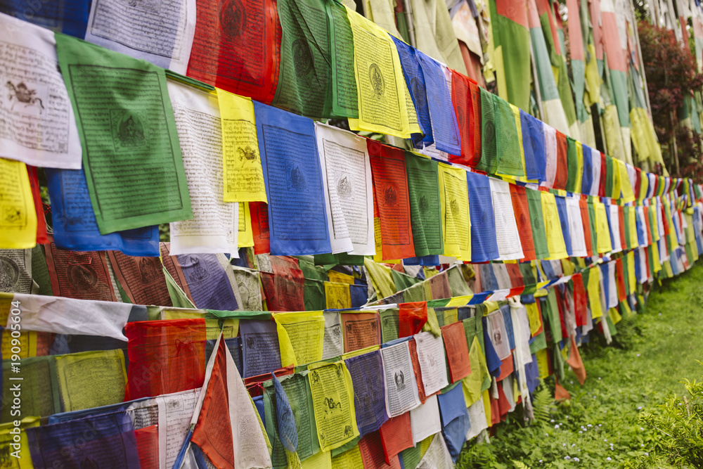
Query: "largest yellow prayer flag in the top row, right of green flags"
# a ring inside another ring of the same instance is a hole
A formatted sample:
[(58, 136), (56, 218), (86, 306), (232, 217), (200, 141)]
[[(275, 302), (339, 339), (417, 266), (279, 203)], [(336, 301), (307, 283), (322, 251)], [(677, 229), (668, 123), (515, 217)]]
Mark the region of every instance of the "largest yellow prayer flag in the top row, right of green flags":
[(407, 139), (420, 133), (418, 116), (405, 83), (398, 50), (387, 32), (347, 8), (354, 35), (354, 75), (359, 119), (352, 130)]

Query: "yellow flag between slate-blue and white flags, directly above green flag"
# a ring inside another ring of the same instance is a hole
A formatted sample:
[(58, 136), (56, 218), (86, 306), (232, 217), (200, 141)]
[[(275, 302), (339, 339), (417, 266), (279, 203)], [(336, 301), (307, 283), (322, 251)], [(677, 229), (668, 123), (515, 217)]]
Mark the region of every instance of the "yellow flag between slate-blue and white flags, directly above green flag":
[(276, 321), (283, 366), (300, 366), (322, 359), (325, 337), (325, 316), (322, 311), (275, 313), (272, 316)]

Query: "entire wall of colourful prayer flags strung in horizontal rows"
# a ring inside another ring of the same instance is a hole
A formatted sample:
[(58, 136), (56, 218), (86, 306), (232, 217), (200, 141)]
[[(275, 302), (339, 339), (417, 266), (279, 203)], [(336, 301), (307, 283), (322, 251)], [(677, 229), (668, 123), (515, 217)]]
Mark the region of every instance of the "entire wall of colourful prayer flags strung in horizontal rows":
[[(576, 345), (703, 249), (700, 186), (339, 4), (111, 4), (20, 12), (94, 44), (0, 15), (2, 372), (22, 378), (0, 442), (21, 467), (453, 467), (531, 415), (539, 378), (582, 383)], [(475, 265), (427, 267), (455, 259)]]

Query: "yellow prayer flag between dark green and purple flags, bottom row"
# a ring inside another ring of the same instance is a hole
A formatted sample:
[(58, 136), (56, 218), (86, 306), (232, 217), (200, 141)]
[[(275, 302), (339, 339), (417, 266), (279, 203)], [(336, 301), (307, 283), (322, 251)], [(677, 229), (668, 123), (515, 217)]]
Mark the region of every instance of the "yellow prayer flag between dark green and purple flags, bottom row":
[(315, 367), (308, 380), (320, 449), (330, 451), (358, 437), (352, 375), (344, 362)]

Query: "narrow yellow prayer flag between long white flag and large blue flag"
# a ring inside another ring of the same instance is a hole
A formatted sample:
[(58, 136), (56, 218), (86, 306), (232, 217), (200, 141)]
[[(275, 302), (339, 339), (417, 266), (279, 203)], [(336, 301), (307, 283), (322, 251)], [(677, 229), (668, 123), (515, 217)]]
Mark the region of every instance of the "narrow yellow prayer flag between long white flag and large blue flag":
[(217, 89), (222, 126), (222, 167), (225, 202), (266, 202), (264, 171), (254, 120), (254, 104)]

